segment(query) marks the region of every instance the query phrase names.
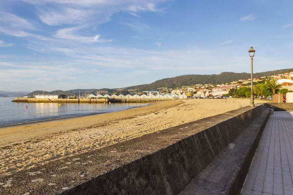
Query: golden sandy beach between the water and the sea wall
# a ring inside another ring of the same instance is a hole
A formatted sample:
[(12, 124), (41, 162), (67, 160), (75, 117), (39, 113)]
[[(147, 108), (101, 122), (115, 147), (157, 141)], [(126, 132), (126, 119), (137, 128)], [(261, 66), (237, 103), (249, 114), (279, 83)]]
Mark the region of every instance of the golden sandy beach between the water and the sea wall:
[(249, 102), (233, 98), (164, 101), (116, 113), (0, 128), (0, 174), (218, 115)]

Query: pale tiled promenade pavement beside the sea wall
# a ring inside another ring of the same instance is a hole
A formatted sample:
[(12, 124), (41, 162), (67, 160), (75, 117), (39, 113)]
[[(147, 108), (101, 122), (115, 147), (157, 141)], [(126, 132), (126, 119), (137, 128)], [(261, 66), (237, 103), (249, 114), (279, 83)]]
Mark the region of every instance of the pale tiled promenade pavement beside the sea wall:
[(270, 116), (241, 195), (293, 195), (293, 112)]

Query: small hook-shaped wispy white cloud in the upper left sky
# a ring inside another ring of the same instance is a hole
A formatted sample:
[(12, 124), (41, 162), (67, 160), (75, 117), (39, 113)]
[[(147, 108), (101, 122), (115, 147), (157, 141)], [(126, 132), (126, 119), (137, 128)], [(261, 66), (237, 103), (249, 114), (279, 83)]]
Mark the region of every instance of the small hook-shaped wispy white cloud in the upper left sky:
[(77, 31), (84, 29), (84, 26), (77, 26), (73, 28), (62, 28), (56, 32), (54, 35), (59, 39), (69, 39), (74, 41), (83, 41), (83, 42), (111, 42), (111, 39), (100, 39), (100, 35), (95, 35), (94, 37), (83, 37), (78, 34), (74, 34)]

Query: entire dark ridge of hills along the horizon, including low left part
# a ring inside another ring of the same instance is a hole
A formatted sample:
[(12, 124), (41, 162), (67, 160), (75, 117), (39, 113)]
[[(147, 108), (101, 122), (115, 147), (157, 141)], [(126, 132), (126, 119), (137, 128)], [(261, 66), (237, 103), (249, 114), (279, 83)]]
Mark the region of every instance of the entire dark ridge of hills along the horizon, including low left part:
[[(261, 77), (270, 77), (272, 75), (277, 75), (281, 73), (286, 73), (293, 71), (293, 68), (290, 69), (281, 69), (281, 70), (274, 70), (274, 71), (267, 71), (262, 73), (255, 73), (253, 74), (253, 78), (261, 78)], [(222, 84), (232, 81), (237, 81), (240, 79), (248, 79), (251, 78), (250, 73), (233, 73), (233, 72), (223, 72), (218, 75), (182, 75), (178, 77), (173, 78), (163, 78), (160, 80), (156, 80), (155, 82), (152, 82), (150, 84), (143, 84), (143, 85), (135, 85), (123, 88), (124, 92), (125, 90), (129, 89), (139, 89), (140, 92), (142, 91), (150, 91), (152, 88), (159, 88), (159, 87), (167, 87), (167, 88), (176, 88), (176, 87), (182, 87), (182, 86), (189, 86), (193, 84)], [(79, 91), (81, 94), (94, 94), (97, 91), (103, 92), (103, 94), (111, 94), (113, 92), (116, 92), (117, 89), (73, 89), (68, 91), (62, 91), (62, 90), (55, 90), (52, 92), (46, 92), (46, 91), (34, 91), (29, 94), (28, 96), (38, 95), (38, 94), (65, 94), (67, 96), (72, 95), (78, 95)], [(1, 93), (1, 91), (0, 91)], [(125, 92), (126, 93), (126, 92)]]

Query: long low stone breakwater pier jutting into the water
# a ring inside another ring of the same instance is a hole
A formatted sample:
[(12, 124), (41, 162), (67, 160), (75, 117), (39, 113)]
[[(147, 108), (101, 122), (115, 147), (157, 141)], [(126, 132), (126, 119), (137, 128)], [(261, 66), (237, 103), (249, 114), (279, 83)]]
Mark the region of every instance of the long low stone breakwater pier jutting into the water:
[(170, 101), (173, 99), (111, 99), (111, 98), (96, 98), (96, 99), (73, 99), (73, 98), (64, 98), (64, 99), (49, 99), (49, 98), (15, 98), (13, 102), (26, 102), (26, 103), (148, 103), (155, 101)]

